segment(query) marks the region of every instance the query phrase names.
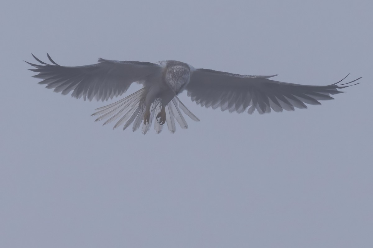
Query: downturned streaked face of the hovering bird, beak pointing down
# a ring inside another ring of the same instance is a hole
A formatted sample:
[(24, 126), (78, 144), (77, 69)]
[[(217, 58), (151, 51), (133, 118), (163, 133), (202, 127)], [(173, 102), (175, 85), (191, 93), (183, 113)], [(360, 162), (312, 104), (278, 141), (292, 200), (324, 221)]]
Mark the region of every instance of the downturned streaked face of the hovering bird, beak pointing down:
[(165, 81), (167, 86), (177, 95), (189, 83), (190, 71), (185, 65), (174, 65), (167, 68)]

